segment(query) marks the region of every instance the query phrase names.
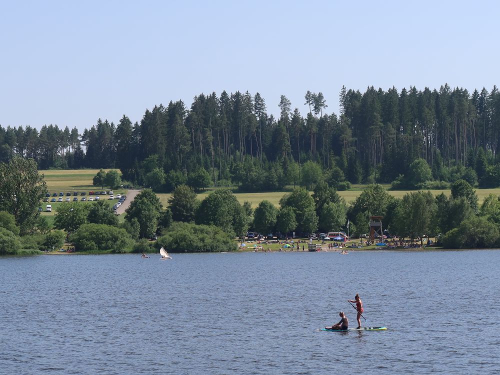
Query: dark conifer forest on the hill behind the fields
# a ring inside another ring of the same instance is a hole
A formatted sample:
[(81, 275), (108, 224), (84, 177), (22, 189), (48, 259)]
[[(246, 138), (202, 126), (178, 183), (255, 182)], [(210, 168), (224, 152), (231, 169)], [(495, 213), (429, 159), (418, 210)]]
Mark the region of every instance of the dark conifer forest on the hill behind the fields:
[(281, 95), (276, 118), (258, 92), (223, 91), (197, 95), (190, 107), (180, 100), (155, 105), (140, 122), (126, 115), (117, 124), (99, 119), (82, 134), (67, 126), (0, 126), (0, 161), (19, 154), (40, 169), (119, 168), (125, 180), (154, 181), (156, 190), (172, 190), (192, 173), (214, 185), (280, 189), (300, 182), (307, 161), (337, 183), (396, 180), (402, 187), (411, 182), (403, 176), (416, 159), (429, 166), (429, 180), (471, 176), (474, 184), (487, 176), (483, 185), (498, 184), (496, 86), (472, 93), (447, 84), (439, 90), (371, 86), (364, 93), (342, 87), (339, 96), (339, 114), (325, 112), (321, 92), (305, 93), (305, 117)]

